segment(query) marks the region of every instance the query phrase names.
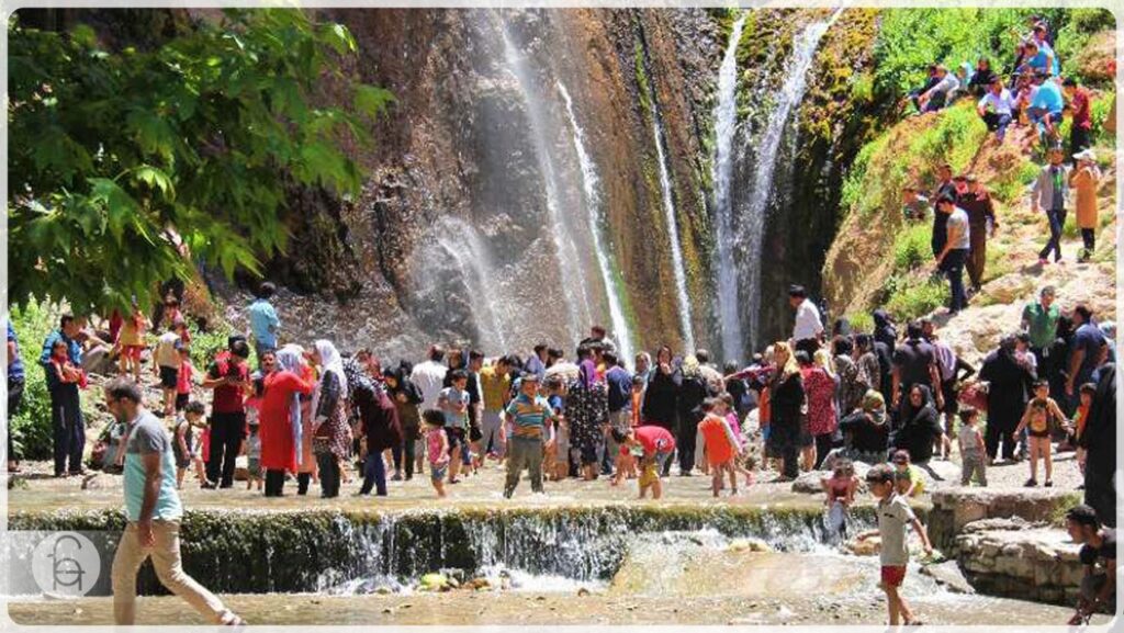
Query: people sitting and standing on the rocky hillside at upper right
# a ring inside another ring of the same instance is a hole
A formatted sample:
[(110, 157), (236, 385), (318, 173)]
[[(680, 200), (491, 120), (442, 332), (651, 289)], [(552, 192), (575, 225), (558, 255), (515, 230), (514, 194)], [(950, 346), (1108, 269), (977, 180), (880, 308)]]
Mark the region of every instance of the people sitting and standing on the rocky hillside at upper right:
[[(1060, 76), (1050, 25), (1032, 16), (1028, 26), (1030, 33), (1018, 44), (1009, 81), (991, 70), (987, 58), (980, 58), (975, 67), (964, 63), (955, 73), (933, 64), (925, 85), (913, 91), (910, 99), (922, 112), (939, 110), (961, 97), (977, 99), (977, 111), (998, 144), (1004, 143), (1012, 124), (1036, 126), (1046, 161), (1034, 179), (1030, 207), (1035, 214), (1044, 214), (1049, 226), (1039, 263), (1050, 264), (1051, 255), (1053, 263), (1064, 262), (1061, 239), (1070, 202), (1082, 241), (1077, 262), (1084, 263), (1096, 250), (1097, 188), (1103, 178), (1091, 146), (1090, 93), (1075, 78)], [(1068, 148), (1060, 135), (1066, 116), (1070, 117)], [(999, 219), (986, 186), (975, 174), (953, 177), (952, 166), (945, 163), (937, 166), (936, 177), (932, 189), (919, 184), (905, 188), (904, 210), (908, 221), (922, 221), (932, 208), (935, 270), (949, 280), (949, 310), (954, 315), (968, 306), (984, 283), (987, 243), (999, 228)]]

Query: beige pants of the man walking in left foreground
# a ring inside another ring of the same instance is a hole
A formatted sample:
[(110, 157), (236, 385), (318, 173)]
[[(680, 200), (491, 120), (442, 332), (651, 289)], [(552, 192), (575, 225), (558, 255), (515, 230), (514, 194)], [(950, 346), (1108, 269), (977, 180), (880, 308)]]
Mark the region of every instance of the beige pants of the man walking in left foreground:
[(140, 544), (136, 523), (130, 522), (121, 534), (111, 571), (114, 622), (129, 625), (136, 618), (137, 571), (140, 570), (145, 559), (152, 557), (156, 578), (164, 587), (187, 600), (208, 622), (221, 624), (224, 618), (229, 617), (230, 612), (215, 594), (183, 572), (180, 559), (180, 524), (172, 521), (154, 521), (152, 533), (155, 543), (151, 548)]

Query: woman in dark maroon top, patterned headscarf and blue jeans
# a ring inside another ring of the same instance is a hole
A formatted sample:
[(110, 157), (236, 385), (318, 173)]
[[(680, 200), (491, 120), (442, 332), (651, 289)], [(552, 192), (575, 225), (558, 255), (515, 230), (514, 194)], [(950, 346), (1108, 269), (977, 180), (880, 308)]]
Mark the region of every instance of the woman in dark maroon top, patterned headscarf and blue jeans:
[(380, 497), (387, 496), (387, 462), (383, 452), (402, 444), (402, 428), (398, 409), (387, 396), (387, 390), (372, 380), (368, 369), (355, 359), (344, 361), (347, 394), (352, 408), (359, 416), (359, 429), (366, 437), (366, 459), (363, 462), (363, 487), (360, 495), (370, 495), (374, 488)]

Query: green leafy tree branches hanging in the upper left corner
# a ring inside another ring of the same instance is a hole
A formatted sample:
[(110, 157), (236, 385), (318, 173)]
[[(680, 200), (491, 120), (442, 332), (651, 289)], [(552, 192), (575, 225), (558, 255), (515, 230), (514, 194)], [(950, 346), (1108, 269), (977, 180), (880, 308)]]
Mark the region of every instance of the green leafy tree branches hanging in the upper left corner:
[[(78, 313), (283, 252), (284, 192), (357, 192), (342, 151), (393, 97), (352, 81), (351, 33), (289, 9), (227, 10), (152, 51), (8, 25), (9, 296)], [(319, 97), (332, 85), (330, 103)]]

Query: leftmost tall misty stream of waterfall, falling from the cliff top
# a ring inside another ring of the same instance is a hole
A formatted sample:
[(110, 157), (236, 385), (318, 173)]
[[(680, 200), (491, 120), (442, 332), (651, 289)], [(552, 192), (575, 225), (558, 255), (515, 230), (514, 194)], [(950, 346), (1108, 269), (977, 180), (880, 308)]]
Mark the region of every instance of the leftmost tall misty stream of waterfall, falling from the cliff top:
[(511, 37), (507, 31), (507, 25), (500, 25), (500, 33), (504, 37), (504, 57), (508, 69), (515, 75), (519, 84), (519, 92), (523, 94), (524, 103), (527, 107), (527, 119), (531, 124), (531, 136), (535, 148), (535, 159), (538, 169), (543, 174), (543, 186), (546, 192), (546, 211), (550, 226), (547, 230), (554, 241), (558, 255), (559, 274), (562, 282), (562, 293), (565, 297), (566, 311), (569, 313), (569, 334), (572, 340), (582, 337), (584, 328), (592, 322), (589, 311), (589, 297), (586, 293), (588, 286), (584, 274), (584, 265), (575, 245), (574, 237), (565, 221), (565, 214), (562, 211), (560, 193), (563, 189), (554, 161), (551, 157), (552, 143), (549, 133), (549, 115), (542, 101), (542, 90), (534, 81), (531, 69), (524, 55), (515, 47)]

